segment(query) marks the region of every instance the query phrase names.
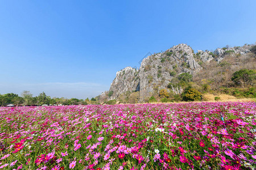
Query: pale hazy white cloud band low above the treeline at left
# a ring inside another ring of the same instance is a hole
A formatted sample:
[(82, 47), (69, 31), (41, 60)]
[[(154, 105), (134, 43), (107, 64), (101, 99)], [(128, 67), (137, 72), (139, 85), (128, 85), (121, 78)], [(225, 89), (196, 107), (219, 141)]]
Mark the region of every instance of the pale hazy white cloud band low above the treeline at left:
[(38, 96), (41, 92), (45, 92), (46, 95), (51, 97), (67, 97), (86, 99), (86, 97), (95, 97), (100, 95), (101, 92), (108, 90), (108, 86), (97, 83), (1, 83), (0, 94), (15, 93), (21, 94), (22, 91), (30, 91), (34, 96)]

